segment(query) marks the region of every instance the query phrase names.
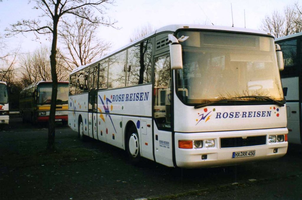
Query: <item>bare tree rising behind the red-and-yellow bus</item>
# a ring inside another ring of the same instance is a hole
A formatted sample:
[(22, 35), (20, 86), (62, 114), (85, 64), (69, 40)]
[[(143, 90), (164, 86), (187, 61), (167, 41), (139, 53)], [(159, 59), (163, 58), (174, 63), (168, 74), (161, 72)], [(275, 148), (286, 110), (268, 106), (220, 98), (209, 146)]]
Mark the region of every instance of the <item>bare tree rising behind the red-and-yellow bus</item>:
[[(59, 52), (59, 50), (57, 50)], [(59, 55), (59, 54), (58, 54)], [(28, 53), (20, 58), (21, 82), (24, 86), (38, 81), (51, 81), (50, 50), (42, 46), (34, 53)], [(58, 80), (68, 80), (69, 71), (66, 70), (65, 62), (62, 58), (56, 58), (56, 73)]]

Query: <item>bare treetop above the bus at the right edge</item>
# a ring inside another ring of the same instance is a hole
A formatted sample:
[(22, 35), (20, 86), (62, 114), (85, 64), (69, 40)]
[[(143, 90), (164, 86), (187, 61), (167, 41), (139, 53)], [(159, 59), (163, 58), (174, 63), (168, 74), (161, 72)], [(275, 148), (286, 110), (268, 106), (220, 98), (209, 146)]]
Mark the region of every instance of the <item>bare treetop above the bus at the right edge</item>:
[(299, 5), (286, 6), (283, 14), (274, 11), (271, 16), (266, 15), (262, 20), (261, 29), (273, 33), (275, 37), (282, 37), (302, 31), (301, 12)]

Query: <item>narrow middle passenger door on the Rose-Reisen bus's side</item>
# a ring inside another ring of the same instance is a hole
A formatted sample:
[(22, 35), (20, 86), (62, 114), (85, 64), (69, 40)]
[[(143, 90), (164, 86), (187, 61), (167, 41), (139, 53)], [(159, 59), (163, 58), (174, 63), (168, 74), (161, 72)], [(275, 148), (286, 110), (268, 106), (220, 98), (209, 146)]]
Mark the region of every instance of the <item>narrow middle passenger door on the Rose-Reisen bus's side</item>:
[(88, 91), (88, 132), (89, 136), (98, 139), (97, 127), (98, 66), (89, 69)]

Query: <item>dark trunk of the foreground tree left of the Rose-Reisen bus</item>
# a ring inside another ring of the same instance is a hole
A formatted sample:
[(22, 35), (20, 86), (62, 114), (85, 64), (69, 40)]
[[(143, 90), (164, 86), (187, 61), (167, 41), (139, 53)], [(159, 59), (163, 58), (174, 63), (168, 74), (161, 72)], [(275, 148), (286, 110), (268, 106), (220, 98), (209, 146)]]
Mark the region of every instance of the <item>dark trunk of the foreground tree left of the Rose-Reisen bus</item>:
[[(57, 16), (55, 16), (56, 18)], [(56, 98), (58, 90), (58, 78), (56, 74), (56, 44), (57, 44), (57, 26), (59, 22), (59, 17), (53, 20), (53, 41), (51, 45), (50, 53), (50, 68), (51, 68), (51, 78), (52, 78), (52, 93), (51, 93), (51, 104), (49, 113), (49, 126), (48, 126), (48, 140), (47, 140), (47, 151), (55, 150), (55, 114), (56, 114)]]

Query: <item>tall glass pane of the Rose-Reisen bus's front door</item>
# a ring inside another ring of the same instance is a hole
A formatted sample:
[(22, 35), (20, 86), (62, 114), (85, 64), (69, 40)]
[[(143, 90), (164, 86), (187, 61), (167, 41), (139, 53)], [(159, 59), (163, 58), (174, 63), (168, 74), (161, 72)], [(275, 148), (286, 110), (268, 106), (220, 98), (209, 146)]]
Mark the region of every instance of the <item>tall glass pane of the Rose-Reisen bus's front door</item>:
[(170, 55), (155, 59), (154, 65), (154, 119), (158, 129), (171, 128)]

